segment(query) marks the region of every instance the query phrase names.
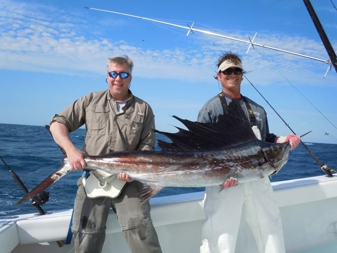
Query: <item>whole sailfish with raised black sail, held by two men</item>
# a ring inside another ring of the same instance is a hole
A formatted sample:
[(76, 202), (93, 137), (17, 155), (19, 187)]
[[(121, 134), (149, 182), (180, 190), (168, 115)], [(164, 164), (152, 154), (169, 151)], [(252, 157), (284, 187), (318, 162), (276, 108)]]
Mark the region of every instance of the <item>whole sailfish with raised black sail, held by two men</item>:
[[(233, 177), (238, 182), (260, 179), (277, 173), (288, 160), (289, 142), (268, 143), (255, 137), (240, 104), (233, 100), (228, 113), (217, 123), (200, 123), (174, 116), (187, 130), (177, 133), (154, 130), (172, 142), (158, 140), (161, 151), (123, 151), (85, 156), (86, 170), (99, 178), (121, 172), (144, 183), (145, 202), (163, 187), (221, 185)], [(62, 150), (62, 149), (61, 149)], [(63, 151), (63, 150), (62, 150)], [(64, 151), (63, 151), (64, 152)], [(67, 157), (62, 166), (27, 193), (23, 203), (71, 172)]]

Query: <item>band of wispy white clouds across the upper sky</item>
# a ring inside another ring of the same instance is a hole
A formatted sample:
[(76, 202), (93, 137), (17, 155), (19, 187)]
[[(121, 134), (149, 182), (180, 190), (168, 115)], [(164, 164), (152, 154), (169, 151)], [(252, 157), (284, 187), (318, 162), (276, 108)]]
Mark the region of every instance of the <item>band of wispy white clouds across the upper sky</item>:
[[(251, 49), (249, 54), (245, 55), (248, 45), (203, 34), (191, 34), (190, 37), (185, 38), (189, 40), (190, 46), (194, 46), (193, 48), (158, 46), (158, 49), (144, 49), (132, 44), (131, 41), (112, 40), (103, 36), (98, 39), (99, 36), (90, 36), (91, 33), (99, 34), (101, 30), (107, 28), (103, 26), (107, 23), (103, 18), (96, 23), (87, 18), (93, 11), (88, 10), (88, 15), (83, 17), (80, 12), (66, 13), (52, 5), (29, 4), (28, 6), (12, 1), (0, 3), (3, 6), (0, 10), (2, 17), (0, 68), (2, 69), (20, 68), (69, 75), (76, 74), (77, 70), (85, 70), (88, 74), (101, 74), (104, 72), (101, 66), (107, 55), (129, 54), (135, 63), (138, 63), (135, 74), (140, 77), (180, 80), (194, 78), (206, 81), (216, 71), (216, 59), (220, 51), (227, 51), (227, 49), (239, 52), (243, 56), (245, 68), (254, 70), (250, 74), (252, 76), (259, 70), (270, 68), (271, 62), (281, 71), (301, 72), (313, 64), (270, 50)], [(127, 25), (119, 20), (113, 19), (113, 25)], [(111, 20), (108, 24), (111, 25)], [(209, 29), (209, 27), (206, 28)], [(245, 40), (248, 36), (251, 38), (254, 35), (247, 32), (214, 31)], [(294, 52), (310, 54), (314, 51), (321, 52), (315, 55), (326, 57), (324, 48), (317, 41), (304, 37), (258, 34), (255, 42), (274, 47), (280, 46)], [(287, 59), (290, 58), (292, 62), (297, 63), (289, 64)], [(151, 69), (150, 74), (146, 71), (148, 69)], [(200, 75), (200, 71), (204, 74)], [(268, 83), (269, 76), (265, 77), (260, 78), (262, 83)]]

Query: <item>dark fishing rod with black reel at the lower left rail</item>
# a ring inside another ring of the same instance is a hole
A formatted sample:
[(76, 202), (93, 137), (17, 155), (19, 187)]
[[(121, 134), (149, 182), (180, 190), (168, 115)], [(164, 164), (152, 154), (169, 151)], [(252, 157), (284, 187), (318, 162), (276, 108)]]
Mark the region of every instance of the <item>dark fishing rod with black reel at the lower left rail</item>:
[[(21, 179), (19, 178), (19, 176), (6, 163), (6, 161), (4, 160), (4, 158), (1, 155), (0, 155), (0, 160), (2, 160), (3, 163), (5, 164), (5, 166), (8, 168), (9, 173), (11, 174), (12, 178), (14, 179), (14, 181), (19, 185), (19, 187), (21, 188), (21, 190), (25, 194), (27, 194), (29, 192), (28, 189), (23, 184), (23, 182), (21, 181)], [(30, 201), (31, 201), (31, 204), (36, 208), (37, 212), (40, 215), (45, 215), (46, 212), (40, 207), (40, 205), (46, 203), (48, 201), (48, 199), (49, 199), (49, 192), (43, 191), (43, 192), (35, 195), (32, 199), (30, 199)]]

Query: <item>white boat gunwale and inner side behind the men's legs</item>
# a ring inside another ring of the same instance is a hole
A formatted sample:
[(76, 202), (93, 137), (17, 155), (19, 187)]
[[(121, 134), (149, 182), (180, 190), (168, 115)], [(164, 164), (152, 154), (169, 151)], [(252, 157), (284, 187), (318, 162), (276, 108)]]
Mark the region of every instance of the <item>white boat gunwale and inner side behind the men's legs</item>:
[[(272, 185), (287, 252), (337, 252), (337, 178), (319, 176)], [(202, 199), (203, 192), (151, 199), (151, 215), (163, 252), (199, 251)], [(65, 240), (70, 217), (71, 209), (0, 219), (0, 252), (74, 252), (72, 243), (59, 247), (56, 242)], [(254, 245), (251, 249), (254, 252)], [(239, 245), (236, 251), (240, 252)], [(113, 213), (107, 223), (103, 252), (130, 252)]]

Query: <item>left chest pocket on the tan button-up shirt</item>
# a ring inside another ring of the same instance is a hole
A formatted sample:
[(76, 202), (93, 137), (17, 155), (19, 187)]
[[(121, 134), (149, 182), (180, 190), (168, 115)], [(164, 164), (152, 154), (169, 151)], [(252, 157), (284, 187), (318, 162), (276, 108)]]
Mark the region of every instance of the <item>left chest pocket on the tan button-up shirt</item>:
[(91, 136), (105, 135), (109, 120), (109, 109), (102, 106), (87, 108), (86, 124)]

